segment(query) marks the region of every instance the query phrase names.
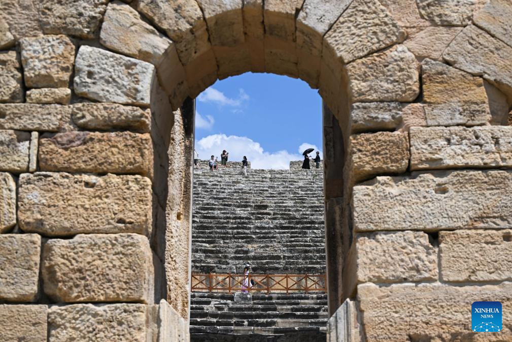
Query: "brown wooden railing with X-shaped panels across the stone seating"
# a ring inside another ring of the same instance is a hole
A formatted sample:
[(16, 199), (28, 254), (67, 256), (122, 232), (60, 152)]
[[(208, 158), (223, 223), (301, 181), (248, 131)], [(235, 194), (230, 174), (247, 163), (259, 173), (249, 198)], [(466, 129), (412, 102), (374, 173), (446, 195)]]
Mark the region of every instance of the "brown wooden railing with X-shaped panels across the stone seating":
[(246, 282), (244, 278), (243, 274), (192, 273), (190, 287), (192, 291), (228, 293), (326, 291), (325, 274), (249, 274)]

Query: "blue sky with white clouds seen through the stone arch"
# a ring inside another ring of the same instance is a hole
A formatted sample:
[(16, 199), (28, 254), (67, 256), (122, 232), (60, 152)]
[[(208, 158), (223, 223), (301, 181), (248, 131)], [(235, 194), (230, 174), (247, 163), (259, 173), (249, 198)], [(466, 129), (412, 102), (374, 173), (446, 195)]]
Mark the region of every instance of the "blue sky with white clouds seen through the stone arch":
[(220, 159), (225, 149), (230, 160), (246, 155), (253, 168), (286, 169), (308, 147), (322, 148), (322, 99), (300, 79), (245, 73), (217, 81), (197, 97), (201, 159)]

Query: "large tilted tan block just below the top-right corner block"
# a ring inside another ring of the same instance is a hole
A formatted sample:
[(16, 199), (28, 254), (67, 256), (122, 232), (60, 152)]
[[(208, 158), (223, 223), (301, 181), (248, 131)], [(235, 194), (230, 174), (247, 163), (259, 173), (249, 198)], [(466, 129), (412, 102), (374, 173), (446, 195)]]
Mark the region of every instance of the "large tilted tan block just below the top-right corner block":
[(443, 52), (455, 68), (482, 75), (508, 96), (512, 95), (511, 55), (512, 47), (473, 25), (465, 27)]

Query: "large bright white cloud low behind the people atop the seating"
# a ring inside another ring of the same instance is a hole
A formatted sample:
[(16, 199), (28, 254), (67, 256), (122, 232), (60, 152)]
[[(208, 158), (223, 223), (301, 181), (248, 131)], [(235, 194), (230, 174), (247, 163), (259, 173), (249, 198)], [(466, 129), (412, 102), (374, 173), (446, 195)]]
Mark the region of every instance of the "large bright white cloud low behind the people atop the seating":
[[(308, 146), (313, 145), (308, 144)], [(220, 160), (222, 150), (229, 152), (231, 161), (242, 160), (244, 155), (247, 156), (253, 169), (288, 169), (291, 160), (303, 159), (302, 151), (300, 154), (286, 150), (266, 152), (259, 143), (245, 136), (212, 134), (196, 142), (196, 151), (200, 159), (209, 159), (211, 155), (215, 155)]]

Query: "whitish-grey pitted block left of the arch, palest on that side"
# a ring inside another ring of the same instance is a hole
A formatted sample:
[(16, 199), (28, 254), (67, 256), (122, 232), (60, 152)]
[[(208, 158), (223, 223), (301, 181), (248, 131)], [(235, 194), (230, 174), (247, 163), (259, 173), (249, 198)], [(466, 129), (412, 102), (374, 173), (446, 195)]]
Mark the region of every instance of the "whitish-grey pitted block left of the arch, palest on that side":
[(76, 56), (75, 93), (100, 102), (149, 106), (154, 76), (150, 63), (83, 45)]

